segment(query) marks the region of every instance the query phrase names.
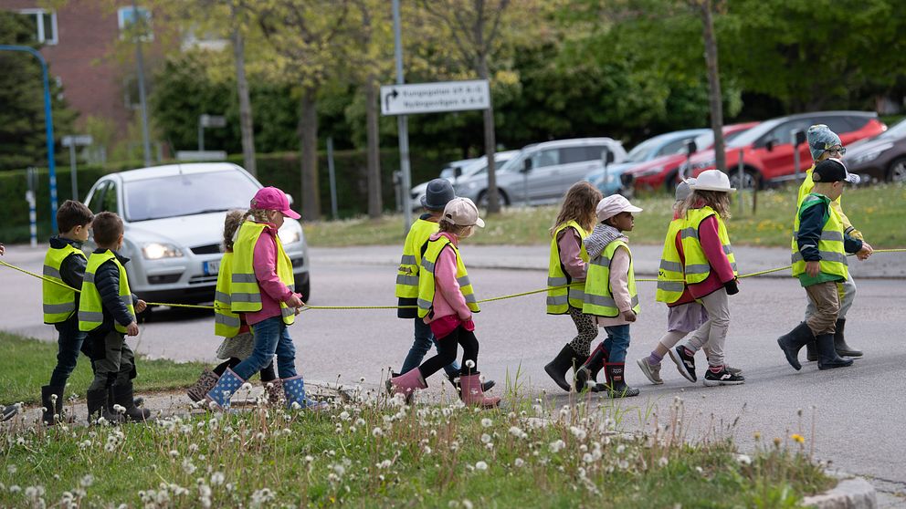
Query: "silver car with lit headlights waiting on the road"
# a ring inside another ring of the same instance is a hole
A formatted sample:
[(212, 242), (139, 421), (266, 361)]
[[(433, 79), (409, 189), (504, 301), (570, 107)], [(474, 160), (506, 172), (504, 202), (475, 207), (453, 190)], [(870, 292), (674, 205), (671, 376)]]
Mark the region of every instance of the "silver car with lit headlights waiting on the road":
[[(262, 186), (228, 162), (171, 164), (104, 175), (85, 203), (125, 227), (122, 255), (132, 292), (148, 302), (214, 300), (227, 211), (248, 209)], [(291, 199), (290, 199), (291, 203)], [(292, 261), (295, 289), (311, 297), (308, 247), (301, 224), (286, 218), (279, 237)], [(94, 245), (86, 243), (86, 250)]]

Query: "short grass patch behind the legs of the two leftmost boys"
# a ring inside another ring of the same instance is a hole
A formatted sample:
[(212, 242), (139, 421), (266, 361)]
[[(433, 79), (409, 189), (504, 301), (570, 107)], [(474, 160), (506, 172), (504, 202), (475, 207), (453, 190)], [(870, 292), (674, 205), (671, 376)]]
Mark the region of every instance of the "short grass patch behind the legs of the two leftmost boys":
[[(2, 402), (39, 402), (41, 386), (47, 384), (51, 371), (57, 365), (57, 343), (0, 331), (0, 345), (4, 348), (4, 355), (0, 356)], [(139, 376), (135, 379), (135, 391), (141, 394), (142, 391), (188, 387), (195, 383), (198, 373), (206, 367), (200, 362), (176, 363), (166, 359), (149, 360), (139, 357), (136, 362)], [(91, 378), (89, 358), (79, 356), (79, 364), (68, 381), (66, 396), (77, 393), (84, 397)]]

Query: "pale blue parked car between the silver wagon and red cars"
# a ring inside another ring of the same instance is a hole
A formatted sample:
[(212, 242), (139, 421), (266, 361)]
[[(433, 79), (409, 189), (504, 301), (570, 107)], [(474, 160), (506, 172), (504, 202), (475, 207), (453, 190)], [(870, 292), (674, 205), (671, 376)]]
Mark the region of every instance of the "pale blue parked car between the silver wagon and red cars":
[(623, 162), (607, 165), (607, 182), (604, 180), (604, 171), (589, 173), (585, 176), (585, 180), (595, 184), (598, 191), (605, 196), (622, 192), (624, 189), (622, 175), (627, 171), (632, 171), (637, 166), (645, 165), (648, 161), (684, 151), (687, 141), (705, 132), (707, 132), (706, 129), (690, 129), (658, 134), (654, 138), (649, 138), (637, 144), (635, 148), (629, 151), (626, 160)]

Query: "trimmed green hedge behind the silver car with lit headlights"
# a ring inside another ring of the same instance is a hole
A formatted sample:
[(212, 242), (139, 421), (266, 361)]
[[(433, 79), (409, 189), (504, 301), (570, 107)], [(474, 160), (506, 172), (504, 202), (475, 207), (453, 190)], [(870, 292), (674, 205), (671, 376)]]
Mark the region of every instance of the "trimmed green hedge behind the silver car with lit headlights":
[[(437, 176), (446, 161), (458, 159), (458, 152), (411, 154), (412, 182), (425, 182)], [(327, 155), (318, 154), (319, 192), (321, 213), (329, 218), (331, 214), (331, 188), (328, 178)], [(242, 155), (231, 155), (230, 162), (242, 165)], [(301, 200), (301, 166), (299, 153), (258, 154), (258, 180), (264, 185), (277, 186), (292, 194), (296, 208)], [(366, 156), (364, 151), (336, 151), (333, 156), (336, 168), (337, 203), (342, 217), (367, 212), (368, 190), (366, 179)], [(116, 171), (142, 167), (141, 162), (124, 162), (99, 166), (79, 166), (79, 194), (82, 199), (102, 175)], [(393, 172), (399, 168), (399, 152), (393, 149), (381, 151), (382, 191), (384, 207), (395, 207)], [(57, 167), (57, 199), (63, 203), (72, 197), (69, 167)], [(47, 168), (38, 169), (37, 189), (37, 235), (39, 240), (50, 234), (50, 192)], [(0, 172), (0, 200), (5, 203), (5, 221), (0, 223), (0, 242), (13, 244), (28, 241), (28, 203), (26, 203), (26, 171)]]

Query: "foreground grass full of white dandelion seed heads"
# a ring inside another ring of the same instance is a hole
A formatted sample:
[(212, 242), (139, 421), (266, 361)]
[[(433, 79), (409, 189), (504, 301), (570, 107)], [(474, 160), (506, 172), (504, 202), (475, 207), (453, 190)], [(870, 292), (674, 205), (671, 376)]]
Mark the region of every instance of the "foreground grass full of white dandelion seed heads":
[(672, 411), (629, 433), (607, 405), (473, 411), (370, 395), (323, 412), (14, 427), (0, 504), (775, 508), (834, 483), (802, 444), (742, 458), (730, 430), (685, 441), (681, 404)]

